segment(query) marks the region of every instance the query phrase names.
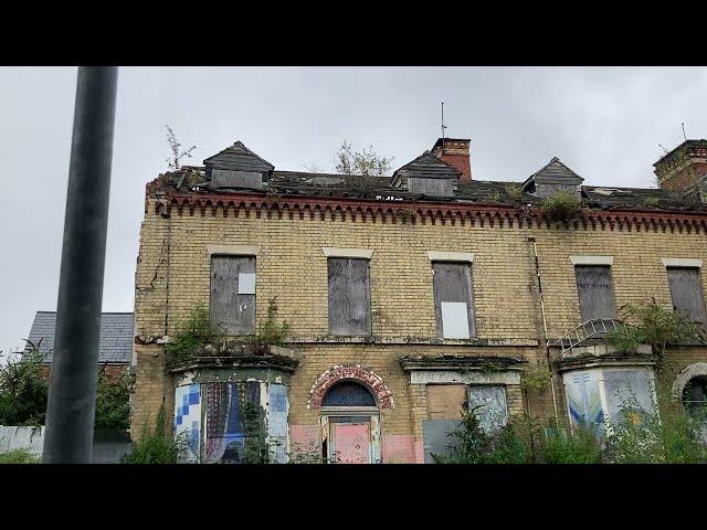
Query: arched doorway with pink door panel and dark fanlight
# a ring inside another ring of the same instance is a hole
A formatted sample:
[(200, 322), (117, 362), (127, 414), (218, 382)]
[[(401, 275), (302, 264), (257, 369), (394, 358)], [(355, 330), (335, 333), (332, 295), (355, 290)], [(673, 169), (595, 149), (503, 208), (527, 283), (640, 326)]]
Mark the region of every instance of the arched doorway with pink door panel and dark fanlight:
[(378, 402), (363, 384), (342, 380), (321, 400), (321, 451), (331, 464), (380, 462)]

